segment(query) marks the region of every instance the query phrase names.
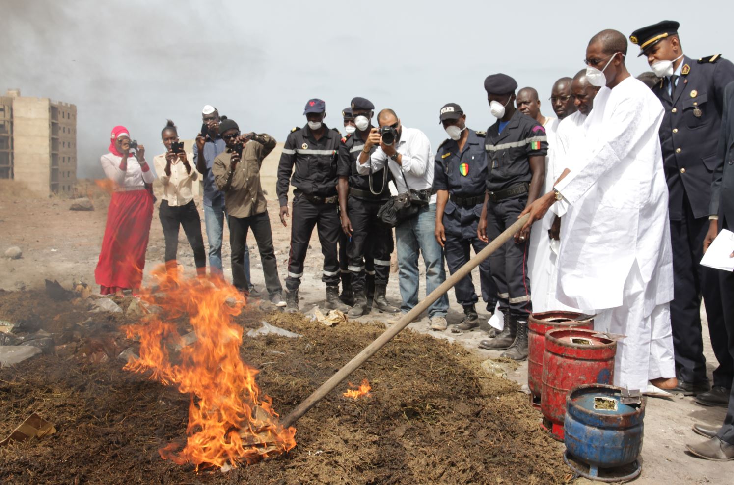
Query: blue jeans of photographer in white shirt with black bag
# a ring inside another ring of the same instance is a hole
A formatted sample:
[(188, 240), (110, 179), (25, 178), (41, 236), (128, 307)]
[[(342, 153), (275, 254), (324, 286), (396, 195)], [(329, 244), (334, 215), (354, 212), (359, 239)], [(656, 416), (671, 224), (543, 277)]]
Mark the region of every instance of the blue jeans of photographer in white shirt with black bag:
[[(436, 205), (422, 208), (418, 216), (402, 222), (395, 228), (398, 247), (398, 278), (400, 296), (403, 299), (400, 310), (410, 311), (418, 305), (418, 252), (423, 255), (426, 265), (426, 295), (434, 291), (446, 280), (443, 269), (443, 250), (433, 232), (436, 227)], [(444, 293), (428, 307), (428, 316), (446, 316), (448, 296)]]

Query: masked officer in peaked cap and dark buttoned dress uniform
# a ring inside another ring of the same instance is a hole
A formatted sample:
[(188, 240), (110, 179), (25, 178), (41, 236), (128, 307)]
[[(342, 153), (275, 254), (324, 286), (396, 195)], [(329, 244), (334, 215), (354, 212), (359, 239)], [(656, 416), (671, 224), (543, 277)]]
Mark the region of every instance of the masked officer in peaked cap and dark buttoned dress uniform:
[[(700, 266), (709, 229), (716, 235), (716, 212), (710, 197), (724, 87), (734, 80), (734, 65), (721, 56), (690, 59), (683, 54), (679, 23), (662, 21), (637, 29), (630, 36), (638, 56), (660, 81), (652, 88), (665, 109), (660, 127), (673, 249), (674, 299), (670, 318), (678, 378), (673, 393), (697, 395), (706, 406), (727, 406), (734, 379), (734, 362), (727, 351), (722, 299), (716, 269)], [(711, 219), (711, 221), (710, 221)], [(713, 353), (719, 367), (710, 390), (703, 356), (700, 307), (705, 304)]]

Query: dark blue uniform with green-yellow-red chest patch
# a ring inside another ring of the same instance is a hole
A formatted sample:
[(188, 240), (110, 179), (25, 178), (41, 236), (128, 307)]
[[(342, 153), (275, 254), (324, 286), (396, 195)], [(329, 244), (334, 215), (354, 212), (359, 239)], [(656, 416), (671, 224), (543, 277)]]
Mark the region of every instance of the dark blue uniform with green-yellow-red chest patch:
[[(484, 131), (469, 132), (463, 150), (458, 142), (446, 139), (439, 147), (433, 171), (433, 190), (446, 190), (448, 201), (443, 209), (443, 228), (446, 233), (444, 255), (448, 271), (454, 274), (470, 259), (470, 249), (482, 251), (487, 243), (476, 235), (476, 226), (482, 216), (484, 194), (487, 190), (487, 152), (484, 150)], [(497, 305), (497, 285), (492, 278), (490, 259), (479, 264), (479, 282), (482, 300), (487, 310), (494, 312)], [(454, 285), (459, 305), (474, 305), (479, 300), (468, 274)]]

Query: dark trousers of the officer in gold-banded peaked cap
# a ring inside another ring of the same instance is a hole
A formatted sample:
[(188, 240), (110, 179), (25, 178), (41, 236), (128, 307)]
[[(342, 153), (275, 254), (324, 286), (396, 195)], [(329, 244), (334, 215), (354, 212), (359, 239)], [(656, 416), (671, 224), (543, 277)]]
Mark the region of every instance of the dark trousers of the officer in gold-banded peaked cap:
[(719, 367), (713, 371), (713, 385), (730, 387), (734, 379), (734, 361), (727, 348), (722, 315), (722, 295), (717, 269), (700, 265), (703, 238), (708, 231), (708, 217), (695, 219), (688, 200), (684, 200), (683, 220), (670, 222), (673, 249), (673, 301), (670, 324), (673, 332), (675, 368), (678, 379), (686, 382), (706, 380), (706, 359), (701, 335), (701, 296), (708, 318), (711, 346)]

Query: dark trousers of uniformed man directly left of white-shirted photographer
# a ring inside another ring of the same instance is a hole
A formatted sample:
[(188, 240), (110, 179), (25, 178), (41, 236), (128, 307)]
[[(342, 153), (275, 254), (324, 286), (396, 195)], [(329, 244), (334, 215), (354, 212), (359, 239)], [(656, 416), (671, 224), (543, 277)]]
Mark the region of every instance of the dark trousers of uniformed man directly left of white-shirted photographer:
[(347, 246), (352, 288), (367, 294), (366, 274), (374, 273), (374, 284), (387, 285), (390, 280), (390, 255), (393, 253), (393, 230), (377, 219), (384, 201), (349, 197), (346, 201), (352, 222), (352, 241)]

